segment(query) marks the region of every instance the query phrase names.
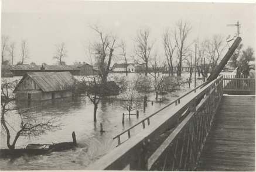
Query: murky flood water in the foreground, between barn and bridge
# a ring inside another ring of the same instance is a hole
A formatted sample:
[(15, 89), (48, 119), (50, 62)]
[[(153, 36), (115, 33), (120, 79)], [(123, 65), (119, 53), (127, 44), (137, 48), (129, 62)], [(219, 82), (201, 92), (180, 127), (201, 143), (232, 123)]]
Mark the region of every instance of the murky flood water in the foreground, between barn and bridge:
[[(12, 78), (12, 80), (14, 79), (19, 78)], [(47, 131), (37, 137), (26, 138), (20, 136), (16, 148), (25, 148), (29, 143), (71, 142), (73, 131), (76, 132), (78, 147), (62, 152), (52, 152), (48, 155), (0, 159), (0, 168), (1, 170), (84, 170), (88, 164), (93, 163), (115, 148), (117, 141), (112, 139), (115, 135), (136, 124), (142, 118), (151, 115), (170, 101), (177, 99), (188, 90), (187, 85), (185, 85), (181, 90), (163, 96), (166, 100), (162, 103), (154, 102), (152, 105), (149, 102), (145, 113), (143, 107), (139, 107), (139, 118), (132, 115), (129, 119), (127, 115), (125, 116), (124, 125), (122, 125), (122, 113), (127, 112), (121, 107), (122, 101), (120, 100), (101, 100), (97, 110), (96, 123), (93, 122), (94, 106), (85, 96), (76, 99), (66, 98), (32, 103), (30, 106), (36, 107), (29, 111), (29, 115), (36, 115), (39, 120), (40, 118), (54, 117), (54, 121), (56, 125), (59, 125), (59, 128)], [(147, 96), (148, 100), (153, 100), (155, 94), (149, 93)], [(23, 102), (20, 106), (26, 107), (28, 103)], [(135, 113), (135, 111), (132, 113)], [(9, 114), (7, 120), (11, 121), (10, 125), (16, 126), (16, 128), (20, 125), (18, 115)], [(100, 123), (103, 124), (105, 131), (103, 134), (100, 132)], [(12, 128), (12, 138), (16, 128)], [(136, 132), (139, 132), (139, 129), (132, 131), (131, 135)], [(1, 132), (0, 143), (1, 149), (6, 149), (6, 135), (4, 132)]]

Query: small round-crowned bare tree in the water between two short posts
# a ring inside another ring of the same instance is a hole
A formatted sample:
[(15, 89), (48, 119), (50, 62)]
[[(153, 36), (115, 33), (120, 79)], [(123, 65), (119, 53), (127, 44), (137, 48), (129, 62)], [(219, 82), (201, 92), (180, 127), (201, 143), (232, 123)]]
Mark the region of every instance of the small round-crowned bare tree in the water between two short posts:
[(122, 95), (122, 108), (128, 111), (129, 116), (131, 115), (131, 111), (138, 107), (138, 92), (134, 90), (134, 88), (129, 88), (127, 91)]

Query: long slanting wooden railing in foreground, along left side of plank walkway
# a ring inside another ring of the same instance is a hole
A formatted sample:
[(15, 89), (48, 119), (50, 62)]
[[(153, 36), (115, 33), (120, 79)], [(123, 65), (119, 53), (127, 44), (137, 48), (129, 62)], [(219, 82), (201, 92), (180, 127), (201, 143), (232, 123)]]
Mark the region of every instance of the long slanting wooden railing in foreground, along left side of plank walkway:
[(222, 95), (220, 76), (87, 169), (193, 170)]

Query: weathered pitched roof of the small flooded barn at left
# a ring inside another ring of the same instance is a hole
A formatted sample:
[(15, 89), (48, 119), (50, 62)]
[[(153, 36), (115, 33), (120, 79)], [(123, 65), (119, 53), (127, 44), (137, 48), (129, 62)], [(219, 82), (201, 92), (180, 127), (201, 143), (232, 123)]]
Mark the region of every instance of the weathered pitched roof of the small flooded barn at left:
[(34, 80), (43, 92), (67, 90), (76, 80), (70, 72), (28, 72), (21, 82), (26, 76)]

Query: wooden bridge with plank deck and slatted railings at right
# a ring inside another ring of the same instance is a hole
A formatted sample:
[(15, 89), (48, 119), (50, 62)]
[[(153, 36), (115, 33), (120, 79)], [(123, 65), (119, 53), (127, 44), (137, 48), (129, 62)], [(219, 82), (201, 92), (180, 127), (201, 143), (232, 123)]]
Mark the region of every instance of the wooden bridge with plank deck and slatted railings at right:
[(219, 76), (149, 115), (136, 124), (141, 132), (115, 136), (117, 148), (87, 169), (254, 171), (255, 95), (223, 93), (255, 94), (255, 79), (232, 82)]

